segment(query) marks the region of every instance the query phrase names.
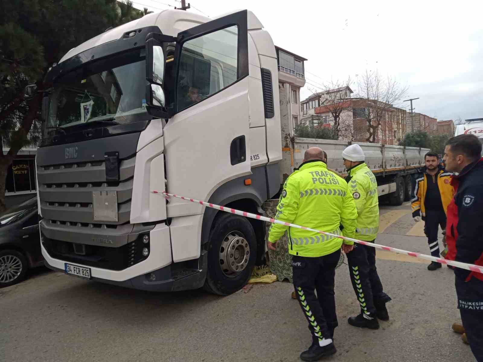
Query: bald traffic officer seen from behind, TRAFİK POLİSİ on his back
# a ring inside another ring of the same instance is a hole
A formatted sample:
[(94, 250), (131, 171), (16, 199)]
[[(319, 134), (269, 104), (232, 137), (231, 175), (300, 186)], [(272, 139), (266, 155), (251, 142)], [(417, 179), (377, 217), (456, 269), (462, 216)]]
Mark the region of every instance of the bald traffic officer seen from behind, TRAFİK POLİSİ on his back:
[[(276, 219), (316, 230), (354, 237), (357, 212), (347, 182), (327, 170), (324, 152), (318, 147), (305, 151), (304, 162), (285, 181)], [(273, 223), (267, 246), (287, 231), (288, 252), (293, 255), (293, 280), (298, 302), (309, 321), (313, 343), (300, 354), (303, 361), (316, 361), (336, 352), (333, 343), (337, 327), (334, 299), (335, 267), (341, 255), (342, 239), (306, 229)], [(351, 241), (343, 241), (348, 249)], [(314, 290), (317, 290), (315, 296)]]

